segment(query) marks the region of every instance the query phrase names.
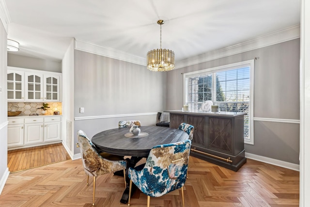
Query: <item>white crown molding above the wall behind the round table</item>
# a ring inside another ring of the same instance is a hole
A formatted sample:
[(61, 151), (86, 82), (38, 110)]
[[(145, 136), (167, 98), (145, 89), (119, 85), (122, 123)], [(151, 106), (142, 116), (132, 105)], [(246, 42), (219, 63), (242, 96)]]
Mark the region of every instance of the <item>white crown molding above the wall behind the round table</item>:
[(93, 53), (96, 55), (102, 55), (102, 56), (106, 56), (109, 58), (114, 58), (117, 60), (126, 61), (129, 63), (146, 65), (146, 59), (145, 58), (141, 58), (141, 57), (135, 56), (133, 54), (123, 52), (121, 50), (108, 48), (108, 47), (104, 47), (104, 46), (99, 46), (99, 45), (93, 44), (91, 42), (87, 42), (87, 41), (80, 40), (80, 39), (75, 39), (74, 48), (81, 50), (81, 51), (84, 51), (84, 52), (90, 52), (90, 53)]

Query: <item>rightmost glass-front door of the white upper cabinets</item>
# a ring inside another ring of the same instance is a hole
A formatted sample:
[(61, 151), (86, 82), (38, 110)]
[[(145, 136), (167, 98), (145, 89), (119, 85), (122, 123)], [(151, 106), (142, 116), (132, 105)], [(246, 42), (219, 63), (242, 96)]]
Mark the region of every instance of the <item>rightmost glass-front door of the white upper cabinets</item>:
[(44, 75), (44, 101), (60, 101), (60, 76)]

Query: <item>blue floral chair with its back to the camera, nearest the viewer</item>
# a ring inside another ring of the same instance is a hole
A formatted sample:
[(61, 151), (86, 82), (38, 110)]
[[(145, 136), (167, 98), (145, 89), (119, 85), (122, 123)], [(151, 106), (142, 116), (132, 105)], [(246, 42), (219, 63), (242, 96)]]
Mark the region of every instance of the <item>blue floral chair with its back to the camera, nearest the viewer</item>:
[(142, 170), (128, 169), (129, 199), (132, 183), (147, 195), (147, 206), (150, 206), (150, 197), (159, 197), (170, 191), (181, 188), (184, 207), (183, 186), (186, 181), (190, 140), (154, 146)]

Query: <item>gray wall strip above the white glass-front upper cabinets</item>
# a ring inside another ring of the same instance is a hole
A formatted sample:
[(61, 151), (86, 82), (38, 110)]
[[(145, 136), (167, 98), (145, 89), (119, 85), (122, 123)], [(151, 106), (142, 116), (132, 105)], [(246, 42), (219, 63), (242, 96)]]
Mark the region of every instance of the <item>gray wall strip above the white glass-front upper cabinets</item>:
[(62, 72), (62, 62), (51, 61), (39, 58), (31, 58), (8, 53), (8, 66), (21, 67), (33, 70), (45, 70), (50, 72)]

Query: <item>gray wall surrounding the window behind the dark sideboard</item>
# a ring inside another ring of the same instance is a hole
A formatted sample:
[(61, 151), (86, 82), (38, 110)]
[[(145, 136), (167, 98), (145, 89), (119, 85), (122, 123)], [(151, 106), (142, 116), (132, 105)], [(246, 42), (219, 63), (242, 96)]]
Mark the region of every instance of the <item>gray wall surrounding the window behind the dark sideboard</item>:
[[(299, 120), (299, 39), (168, 72), (167, 110), (183, 106), (183, 75), (207, 68), (255, 60), (254, 120)], [(254, 121), (254, 145), (247, 153), (299, 164), (299, 124)]]

